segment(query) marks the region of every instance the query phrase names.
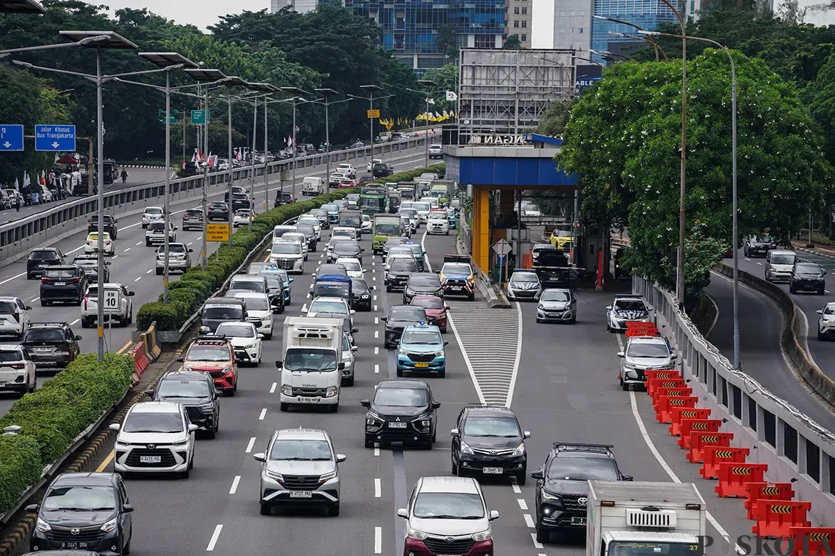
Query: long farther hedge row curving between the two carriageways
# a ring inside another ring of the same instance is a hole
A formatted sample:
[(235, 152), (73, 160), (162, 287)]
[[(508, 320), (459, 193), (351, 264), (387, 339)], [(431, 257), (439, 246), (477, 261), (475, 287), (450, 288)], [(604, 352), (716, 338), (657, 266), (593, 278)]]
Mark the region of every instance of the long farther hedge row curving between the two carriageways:
[(185, 271), (177, 282), (170, 283), (168, 303), (162, 302), (162, 295), (152, 303), (145, 303), (136, 313), (136, 328), (147, 330), (156, 321), (157, 330), (179, 330), (188, 318), (197, 312), (206, 299), (210, 298), (229, 278), (235, 269), (244, 262), (246, 255), (256, 248), (259, 242), (272, 229), (287, 220), (304, 214), (325, 203), (344, 198), (356, 189), (340, 189), (326, 193), (307, 201), (282, 205), (261, 213), (252, 220), (252, 231), (239, 228), (232, 234), (232, 247), (226, 243), (220, 245), (210, 255), (205, 271), (198, 264)]

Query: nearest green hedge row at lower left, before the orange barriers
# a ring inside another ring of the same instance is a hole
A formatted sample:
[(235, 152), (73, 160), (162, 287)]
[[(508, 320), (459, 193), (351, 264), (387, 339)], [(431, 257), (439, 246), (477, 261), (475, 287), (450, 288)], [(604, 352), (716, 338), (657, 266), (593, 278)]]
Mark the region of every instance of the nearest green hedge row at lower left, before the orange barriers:
[(107, 353), (98, 363), (95, 353), (84, 354), (13, 404), (0, 418), (0, 429), (21, 427), (15, 436), (0, 436), (0, 514), (119, 400), (133, 373), (129, 355)]

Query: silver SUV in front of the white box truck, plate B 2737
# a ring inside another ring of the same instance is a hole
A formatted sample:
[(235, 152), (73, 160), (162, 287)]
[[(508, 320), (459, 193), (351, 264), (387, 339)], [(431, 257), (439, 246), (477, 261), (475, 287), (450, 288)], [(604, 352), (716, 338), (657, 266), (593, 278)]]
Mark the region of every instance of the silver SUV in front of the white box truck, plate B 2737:
[(327, 508), (339, 515), (339, 464), (331, 437), (316, 428), (282, 428), (272, 434), (266, 453), (253, 455), (261, 463), (261, 515), (272, 508), (304, 506)]

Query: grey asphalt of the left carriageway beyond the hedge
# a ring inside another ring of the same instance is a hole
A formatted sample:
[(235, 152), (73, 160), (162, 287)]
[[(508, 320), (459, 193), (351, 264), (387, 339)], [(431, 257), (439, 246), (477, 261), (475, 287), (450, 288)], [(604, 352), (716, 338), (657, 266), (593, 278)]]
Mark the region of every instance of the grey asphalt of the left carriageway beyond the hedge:
[[(395, 167), (395, 172), (423, 166), (423, 148), (402, 151), (398, 155), (390, 159), (390, 163)], [(301, 185), (301, 180), (305, 176), (324, 175), (324, 166), (307, 168), (304, 171), (300, 170), (296, 173), (296, 184)], [(259, 183), (256, 183), (255, 187), (250, 187), (245, 180), (240, 185), (250, 189), (256, 201), (256, 211), (261, 212), (264, 207), (263, 178), (259, 180)], [(276, 174), (276, 181), (272, 182), (267, 190), (270, 208), (272, 208), (273, 200), (276, 197), (276, 188), (280, 187), (281, 185), (277, 182)], [(293, 185), (291, 182), (285, 182), (283, 187), (286, 190), (292, 190)], [(222, 200), (222, 193), (209, 200)], [(200, 198), (193, 198), (182, 203), (172, 204), (170, 209), (178, 228), (180, 228), (182, 223), (182, 213), (187, 208), (193, 208), (199, 206), (199, 204)], [(158, 277), (155, 273), (155, 248), (145, 247), (145, 231), (141, 226), (141, 215), (119, 218), (117, 228), (119, 228), (119, 234), (116, 240), (116, 254), (112, 258), (106, 258), (110, 263), (110, 281), (124, 283), (129, 290), (135, 293), (132, 298), (135, 315), (143, 303), (155, 300), (159, 296), (159, 293), (162, 293), (162, 277)], [(84, 239), (86, 237), (87, 232), (85, 230), (75, 233), (53, 245), (60, 248), (67, 255), (69, 263), (75, 255), (83, 253)], [(181, 229), (178, 229), (176, 241), (187, 243), (190, 248), (194, 249), (194, 253), (191, 253), (192, 263), (196, 264), (200, 261), (200, 251), (202, 249), (201, 232), (183, 232)], [(213, 253), (215, 248), (216, 244), (209, 243), (209, 254)], [(172, 280), (177, 280), (179, 277), (180, 274), (177, 273), (171, 275)], [(94, 353), (96, 351), (96, 332), (94, 329), (81, 328), (80, 308), (74, 305), (53, 305), (48, 308), (40, 306), (38, 298), (39, 281), (26, 279), (25, 258), (0, 268), (0, 288), (2, 288), (0, 292), (3, 295), (17, 296), (23, 299), (24, 303), (32, 306), (31, 317), (33, 322), (70, 323), (73, 332), (81, 335), (83, 338), (80, 341), (82, 352)], [(128, 328), (105, 328), (104, 337), (108, 340), (108, 348), (111, 351), (117, 351), (123, 348), (126, 343), (129, 343), (130, 333), (133, 328), (133, 326)], [(13, 340), (11, 338), (0, 338), (0, 343), (12, 342)], [(43, 380), (47, 380), (52, 376), (51, 373), (38, 373), (38, 384), (43, 383)], [(15, 399), (17, 399), (16, 394), (0, 393), (0, 414), (6, 413)]]

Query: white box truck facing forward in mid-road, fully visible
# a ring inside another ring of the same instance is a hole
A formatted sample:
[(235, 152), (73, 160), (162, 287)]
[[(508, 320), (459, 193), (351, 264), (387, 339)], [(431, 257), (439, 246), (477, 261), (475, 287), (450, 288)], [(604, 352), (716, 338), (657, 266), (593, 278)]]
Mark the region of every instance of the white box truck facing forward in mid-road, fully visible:
[(281, 369), (281, 411), (291, 405), (326, 405), (339, 410), (342, 328), (339, 318), (287, 317)]

